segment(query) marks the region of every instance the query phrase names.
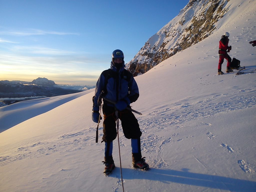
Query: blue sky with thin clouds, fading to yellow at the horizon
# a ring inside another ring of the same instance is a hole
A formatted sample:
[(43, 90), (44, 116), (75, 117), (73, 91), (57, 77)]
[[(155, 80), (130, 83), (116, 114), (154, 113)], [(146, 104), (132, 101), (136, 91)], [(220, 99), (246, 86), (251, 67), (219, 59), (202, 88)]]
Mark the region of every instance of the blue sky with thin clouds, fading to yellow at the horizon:
[(94, 85), (111, 53), (129, 62), (189, 0), (0, 0), (0, 80)]

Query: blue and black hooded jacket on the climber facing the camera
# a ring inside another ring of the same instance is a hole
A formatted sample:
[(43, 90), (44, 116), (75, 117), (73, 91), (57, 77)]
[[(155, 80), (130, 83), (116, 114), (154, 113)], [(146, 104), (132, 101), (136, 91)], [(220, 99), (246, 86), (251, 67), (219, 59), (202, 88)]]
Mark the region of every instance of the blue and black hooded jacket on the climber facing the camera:
[[(124, 69), (125, 65), (119, 70), (111, 62), (110, 69), (101, 73), (95, 87), (95, 95), (92, 98), (93, 111), (99, 111), (100, 103), (98, 103), (100, 94), (104, 91), (103, 96), (112, 101), (129, 99), (135, 102), (139, 97), (139, 89), (132, 74)], [(103, 100), (104, 101), (104, 100)], [(112, 105), (108, 103), (108, 105)]]

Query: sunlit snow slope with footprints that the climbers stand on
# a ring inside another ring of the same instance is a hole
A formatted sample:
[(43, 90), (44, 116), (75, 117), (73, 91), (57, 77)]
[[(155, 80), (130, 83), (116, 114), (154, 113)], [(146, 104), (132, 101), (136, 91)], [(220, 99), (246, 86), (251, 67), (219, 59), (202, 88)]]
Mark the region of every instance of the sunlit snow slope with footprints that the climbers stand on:
[[(135, 116), (151, 170), (132, 168), (130, 140), (120, 128), (124, 191), (256, 191), (256, 72), (216, 75), (225, 31), (230, 56), (241, 61), (244, 72), (256, 69), (256, 48), (248, 43), (256, 39), (256, 7), (234, 1), (230, 8), (237, 2), (243, 13), (234, 9), (213, 35), (135, 78), (140, 98), (132, 108), (143, 114)], [(69, 99), (0, 108), (1, 117), (8, 115), (0, 126), (9, 123), (0, 133), (1, 192), (123, 191), (117, 140), (117, 167), (103, 174), (104, 146), (95, 143), (92, 97), (88, 90)]]

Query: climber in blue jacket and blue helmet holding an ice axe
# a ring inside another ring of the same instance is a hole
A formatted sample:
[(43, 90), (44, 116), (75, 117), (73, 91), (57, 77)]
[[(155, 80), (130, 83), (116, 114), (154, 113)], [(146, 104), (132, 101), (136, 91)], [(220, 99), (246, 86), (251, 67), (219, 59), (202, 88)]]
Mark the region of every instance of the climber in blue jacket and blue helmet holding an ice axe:
[(127, 110), (132, 102), (135, 102), (139, 97), (139, 90), (132, 74), (128, 72), (124, 65), (124, 54), (121, 50), (116, 49), (112, 52), (112, 61), (110, 69), (101, 73), (96, 87), (95, 95), (93, 96), (92, 120), (95, 123), (99, 122), (100, 102), (103, 96), (106, 99), (112, 100), (115, 104), (104, 100), (103, 98), (103, 141), (104, 141), (104, 173), (111, 173), (115, 168), (112, 157), (113, 140), (117, 136), (116, 130), (116, 114), (121, 120), (124, 136), (131, 139), (132, 146), (132, 164), (135, 168), (148, 169), (149, 166), (145, 162), (145, 157), (141, 155), (140, 137), (142, 132), (134, 114)]

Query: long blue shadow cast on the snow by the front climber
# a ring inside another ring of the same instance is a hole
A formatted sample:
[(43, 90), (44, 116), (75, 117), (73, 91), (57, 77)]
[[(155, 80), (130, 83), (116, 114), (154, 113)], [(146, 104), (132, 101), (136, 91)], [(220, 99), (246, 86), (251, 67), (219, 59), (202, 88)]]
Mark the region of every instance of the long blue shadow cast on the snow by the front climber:
[[(119, 168), (116, 167), (116, 169)], [(140, 174), (134, 174), (134, 171)], [(216, 175), (156, 168), (151, 168), (149, 171), (122, 168), (122, 173), (123, 179), (157, 180), (163, 183), (180, 183), (237, 192), (256, 191), (256, 182)]]

